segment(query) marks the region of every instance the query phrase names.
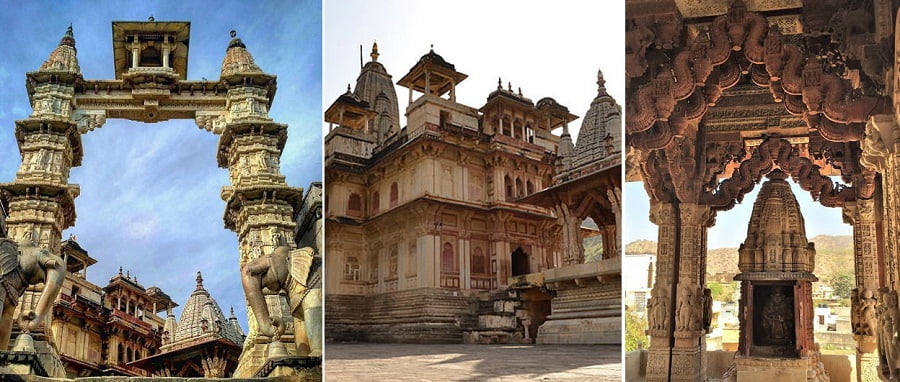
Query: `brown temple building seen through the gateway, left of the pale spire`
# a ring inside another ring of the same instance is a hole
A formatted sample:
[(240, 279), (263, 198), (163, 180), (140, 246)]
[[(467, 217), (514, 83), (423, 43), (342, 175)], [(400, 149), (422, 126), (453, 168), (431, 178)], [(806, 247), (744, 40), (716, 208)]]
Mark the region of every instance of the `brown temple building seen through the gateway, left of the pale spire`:
[[(120, 270), (106, 286), (96, 285), (87, 280), (87, 271), (97, 260), (75, 238), (60, 248), (67, 272), (53, 306), (49, 342), (65, 375), (149, 375), (128, 363), (160, 351), (165, 319), (157, 314), (178, 304), (158, 287), (145, 288), (130, 272)], [(34, 303), (23, 296), (21, 308)]]

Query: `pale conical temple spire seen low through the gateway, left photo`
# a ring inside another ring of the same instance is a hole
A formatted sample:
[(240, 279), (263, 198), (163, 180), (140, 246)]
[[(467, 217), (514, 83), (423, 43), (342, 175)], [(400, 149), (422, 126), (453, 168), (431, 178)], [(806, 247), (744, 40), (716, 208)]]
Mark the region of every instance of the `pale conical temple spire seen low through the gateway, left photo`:
[[(168, 324), (168, 323), (167, 323)], [(168, 326), (168, 325), (167, 325)], [(224, 338), (238, 346), (244, 343), (244, 333), (237, 318), (225, 318), (222, 309), (203, 288), (203, 276), (197, 272), (197, 288), (191, 293), (178, 320), (171, 347), (189, 345), (202, 338)]]

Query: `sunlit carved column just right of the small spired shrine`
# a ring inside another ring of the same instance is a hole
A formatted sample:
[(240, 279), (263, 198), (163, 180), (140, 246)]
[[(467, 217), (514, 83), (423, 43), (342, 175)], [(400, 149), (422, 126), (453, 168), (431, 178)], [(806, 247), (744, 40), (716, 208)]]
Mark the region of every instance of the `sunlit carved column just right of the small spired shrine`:
[(859, 199), (844, 203), (844, 222), (853, 226), (854, 270), (851, 321), (856, 340), (857, 381), (877, 381), (878, 323), (878, 237), (875, 225), (875, 200)]

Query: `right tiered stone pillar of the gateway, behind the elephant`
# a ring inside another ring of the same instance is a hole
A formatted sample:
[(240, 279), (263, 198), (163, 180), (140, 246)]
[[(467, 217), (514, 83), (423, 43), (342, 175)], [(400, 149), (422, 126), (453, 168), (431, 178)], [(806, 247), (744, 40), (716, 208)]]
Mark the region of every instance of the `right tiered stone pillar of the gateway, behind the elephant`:
[[(197, 123), (220, 132), (217, 161), (227, 168), (231, 186), (222, 189), (225, 228), (238, 237), (239, 264), (270, 255), (276, 247), (296, 248), (296, 213), (303, 203), (303, 190), (291, 187), (281, 174), (280, 158), (287, 142), (287, 125), (276, 123), (268, 111), (275, 94), (275, 76), (263, 72), (234, 36), (222, 62), (220, 86), (227, 89), (227, 113), (197, 115)], [(269, 315), (284, 325), (284, 343), (290, 355), (309, 353), (297, 301), (285, 296), (266, 296)], [(292, 311), (295, 310), (296, 311)], [(235, 377), (253, 375), (266, 361), (271, 339), (259, 333), (256, 317), (248, 306), (247, 340), (238, 360)]]

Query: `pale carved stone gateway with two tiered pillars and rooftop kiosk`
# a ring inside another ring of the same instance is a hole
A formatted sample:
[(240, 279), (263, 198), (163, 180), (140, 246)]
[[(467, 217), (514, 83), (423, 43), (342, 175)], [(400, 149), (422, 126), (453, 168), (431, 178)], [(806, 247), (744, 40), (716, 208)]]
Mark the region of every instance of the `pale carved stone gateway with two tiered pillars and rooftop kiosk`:
[[(71, 26), (43, 65), (26, 75), (33, 112), (16, 121), (22, 163), (13, 182), (0, 184), (9, 236), (59, 251), (62, 231), (75, 224), (74, 200), (80, 189), (68, 178), (70, 169), (81, 165), (81, 135), (109, 118), (148, 123), (193, 119), (200, 129), (219, 136), (218, 166), (228, 169), (231, 183), (221, 192), (224, 224), (238, 236), (240, 264), (270, 253), (280, 243), (295, 247), (303, 190), (289, 186), (280, 171), (287, 125), (268, 115), (276, 77), (256, 65), (234, 31), (220, 78), (196, 81), (185, 79), (189, 22), (112, 26), (115, 79), (83, 78)], [(148, 60), (143, 54), (148, 49), (161, 59)], [(253, 337), (257, 325), (249, 309), (248, 314)], [(290, 316), (282, 321), (292, 322)], [(299, 345), (305, 340), (293, 337), (292, 324), (286, 329), (284, 342)], [(255, 347), (245, 354), (262, 351)], [(254, 363), (259, 360), (250, 358), (242, 356), (238, 373), (258, 369)]]

